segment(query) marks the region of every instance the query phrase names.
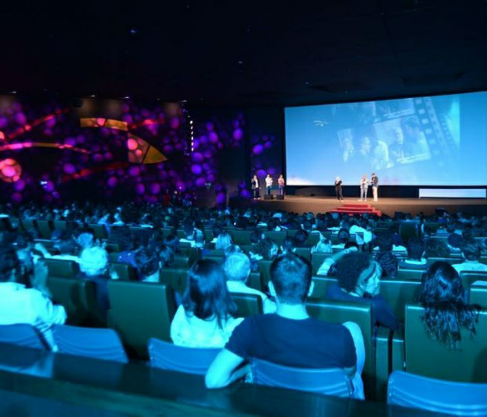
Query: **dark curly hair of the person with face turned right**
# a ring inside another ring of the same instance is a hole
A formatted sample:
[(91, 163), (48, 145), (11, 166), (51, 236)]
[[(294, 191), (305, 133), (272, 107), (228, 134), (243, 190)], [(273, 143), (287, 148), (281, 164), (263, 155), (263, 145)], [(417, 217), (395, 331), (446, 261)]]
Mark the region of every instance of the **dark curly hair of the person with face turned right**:
[(369, 275), (374, 273), (375, 262), (365, 252), (350, 252), (343, 255), (336, 263), (338, 285), (346, 292), (356, 291), (357, 287), (366, 283)]

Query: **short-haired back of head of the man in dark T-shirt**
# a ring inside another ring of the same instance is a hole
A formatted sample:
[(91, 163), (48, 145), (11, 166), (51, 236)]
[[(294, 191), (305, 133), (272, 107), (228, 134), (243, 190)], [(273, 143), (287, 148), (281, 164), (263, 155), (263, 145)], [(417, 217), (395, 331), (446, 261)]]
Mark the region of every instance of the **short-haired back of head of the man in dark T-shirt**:
[(311, 285), (312, 268), (308, 260), (295, 254), (274, 259), (270, 269), (271, 282), (281, 304), (303, 304)]

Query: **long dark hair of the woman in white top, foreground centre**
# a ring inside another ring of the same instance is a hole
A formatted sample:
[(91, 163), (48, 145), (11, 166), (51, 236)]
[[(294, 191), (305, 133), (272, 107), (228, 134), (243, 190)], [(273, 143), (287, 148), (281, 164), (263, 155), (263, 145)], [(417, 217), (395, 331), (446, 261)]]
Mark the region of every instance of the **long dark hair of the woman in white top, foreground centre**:
[(225, 272), (218, 262), (200, 259), (193, 264), (188, 272), (183, 306), (187, 314), (199, 319), (216, 318), (220, 327), (236, 311), (226, 287)]

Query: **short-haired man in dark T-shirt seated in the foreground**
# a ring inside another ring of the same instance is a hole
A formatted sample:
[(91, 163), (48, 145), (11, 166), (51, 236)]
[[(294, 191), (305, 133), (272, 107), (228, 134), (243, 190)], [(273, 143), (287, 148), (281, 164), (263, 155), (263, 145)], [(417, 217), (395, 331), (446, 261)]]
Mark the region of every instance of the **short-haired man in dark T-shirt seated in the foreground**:
[(243, 377), (252, 358), (295, 368), (342, 368), (353, 379), (355, 397), (363, 399), (361, 372), (365, 359), (355, 323), (327, 323), (308, 316), (306, 297), (313, 291), (311, 265), (287, 254), (272, 263), (269, 290), (277, 314), (246, 317), (236, 327), (206, 373), (206, 386), (219, 388)]

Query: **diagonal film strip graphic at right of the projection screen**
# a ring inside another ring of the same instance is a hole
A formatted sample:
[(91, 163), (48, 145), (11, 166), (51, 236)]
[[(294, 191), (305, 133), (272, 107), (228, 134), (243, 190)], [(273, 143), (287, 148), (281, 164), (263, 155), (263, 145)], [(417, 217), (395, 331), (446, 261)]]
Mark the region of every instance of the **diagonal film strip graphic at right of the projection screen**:
[(414, 107), (434, 163), (438, 167), (455, 166), (458, 163), (457, 145), (448, 127), (446, 116), (436, 111), (431, 97), (415, 98)]

